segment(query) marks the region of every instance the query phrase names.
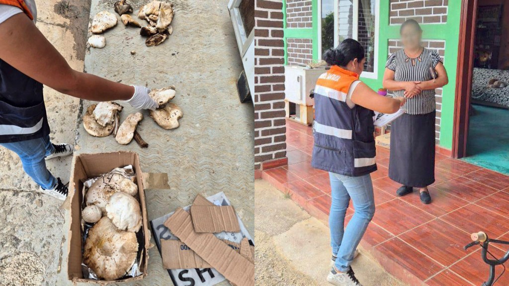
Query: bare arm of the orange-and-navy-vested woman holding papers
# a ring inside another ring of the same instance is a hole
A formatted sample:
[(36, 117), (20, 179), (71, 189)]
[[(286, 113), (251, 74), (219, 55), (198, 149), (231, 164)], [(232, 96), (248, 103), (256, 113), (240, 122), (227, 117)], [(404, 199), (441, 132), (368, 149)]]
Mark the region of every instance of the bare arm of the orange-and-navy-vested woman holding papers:
[(406, 102), (404, 97), (382, 96), (360, 82), (352, 93), (352, 102), (382, 113), (394, 113)]

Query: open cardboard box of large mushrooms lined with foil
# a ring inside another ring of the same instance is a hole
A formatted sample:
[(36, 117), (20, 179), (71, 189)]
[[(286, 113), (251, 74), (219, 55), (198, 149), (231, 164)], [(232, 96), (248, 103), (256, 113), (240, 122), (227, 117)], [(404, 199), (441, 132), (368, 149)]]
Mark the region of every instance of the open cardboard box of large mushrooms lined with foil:
[[(73, 273), (73, 280), (104, 283), (142, 278), (147, 270), (149, 238), (145, 193), (139, 184), (141, 176), (135, 173), (135, 170), (141, 172), (137, 155), (109, 153), (103, 156), (104, 162), (100, 155), (79, 155), (75, 162), (71, 217), (77, 214), (76, 211), (81, 213), (82, 273), (81, 277)], [(123, 167), (114, 167), (97, 176), (106, 171), (108, 165), (116, 164)], [(83, 187), (79, 187), (81, 185)], [(78, 197), (82, 198), (80, 201), (76, 200), (77, 189), (82, 190), (81, 194), (78, 193)], [(76, 204), (80, 205), (77, 209)], [(74, 225), (72, 218), (71, 221)], [(74, 236), (70, 237), (70, 245), (76, 244)], [(69, 255), (72, 249), (70, 246)], [(71, 275), (69, 277), (71, 279)]]

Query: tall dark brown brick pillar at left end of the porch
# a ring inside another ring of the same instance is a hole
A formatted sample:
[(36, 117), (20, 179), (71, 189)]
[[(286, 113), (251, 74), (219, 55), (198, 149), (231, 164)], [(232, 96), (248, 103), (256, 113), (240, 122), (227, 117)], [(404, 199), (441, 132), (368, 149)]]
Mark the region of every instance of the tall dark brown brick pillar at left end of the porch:
[(256, 0), (254, 19), (254, 164), (286, 157), (281, 0)]

